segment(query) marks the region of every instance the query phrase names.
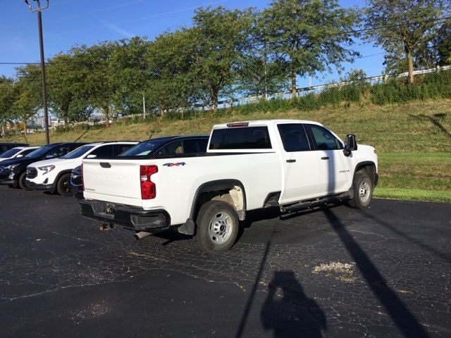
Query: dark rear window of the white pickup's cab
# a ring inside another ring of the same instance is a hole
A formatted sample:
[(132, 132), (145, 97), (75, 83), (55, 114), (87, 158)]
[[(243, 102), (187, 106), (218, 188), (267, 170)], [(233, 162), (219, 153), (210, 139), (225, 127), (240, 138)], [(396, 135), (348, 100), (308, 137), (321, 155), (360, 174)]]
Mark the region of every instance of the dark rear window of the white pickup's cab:
[(271, 149), (268, 127), (216, 129), (211, 134), (209, 149)]

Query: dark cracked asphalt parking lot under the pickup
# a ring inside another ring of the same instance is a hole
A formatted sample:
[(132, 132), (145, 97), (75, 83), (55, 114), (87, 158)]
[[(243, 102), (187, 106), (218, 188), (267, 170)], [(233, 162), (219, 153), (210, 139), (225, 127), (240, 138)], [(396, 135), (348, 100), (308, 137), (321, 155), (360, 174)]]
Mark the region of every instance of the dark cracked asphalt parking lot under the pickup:
[(451, 337), (451, 205), (252, 213), (207, 256), (0, 187), (0, 337)]

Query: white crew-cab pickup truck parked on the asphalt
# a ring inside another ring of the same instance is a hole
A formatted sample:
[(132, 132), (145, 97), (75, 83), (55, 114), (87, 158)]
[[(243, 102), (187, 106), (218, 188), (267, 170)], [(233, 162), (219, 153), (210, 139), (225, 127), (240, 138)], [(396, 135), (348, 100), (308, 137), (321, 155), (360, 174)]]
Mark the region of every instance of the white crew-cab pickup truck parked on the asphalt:
[(145, 234), (177, 227), (206, 252), (233, 246), (246, 212), (369, 205), (378, 181), (372, 146), (304, 120), (215, 125), (206, 153), (84, 159), (82, 215)]

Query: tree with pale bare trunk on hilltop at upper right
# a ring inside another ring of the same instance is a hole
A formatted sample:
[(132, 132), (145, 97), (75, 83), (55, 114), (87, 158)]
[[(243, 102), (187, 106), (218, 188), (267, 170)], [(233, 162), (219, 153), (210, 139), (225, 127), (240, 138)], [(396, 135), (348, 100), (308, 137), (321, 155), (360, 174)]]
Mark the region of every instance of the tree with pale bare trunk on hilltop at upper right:
[[(364, 27), (367, 39), (382, 46), (386, 63), (407, 60), (409, 82), (414, 82), (414, 58), (421, 57), (438, 34), (438, 21), (446, 11), (447, 0), (367, 0)], [(426, 48), (425, 48), (426, 47)], [(391, 68), (394, 68), (391, 65)]]

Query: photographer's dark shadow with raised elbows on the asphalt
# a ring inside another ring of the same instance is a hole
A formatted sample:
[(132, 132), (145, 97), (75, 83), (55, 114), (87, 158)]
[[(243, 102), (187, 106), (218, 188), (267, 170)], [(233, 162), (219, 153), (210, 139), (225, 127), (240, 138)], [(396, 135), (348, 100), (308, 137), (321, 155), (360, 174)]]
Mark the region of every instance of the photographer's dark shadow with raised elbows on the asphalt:
[[(280, 290), (282, 297), (276, 293)], [(304, 294), (292, 271), (276, 271), (268, 284), (268, 296), (261, 308), (261, 323), (274, 337), (323, 337), (326, 315), (318, 303)]]

